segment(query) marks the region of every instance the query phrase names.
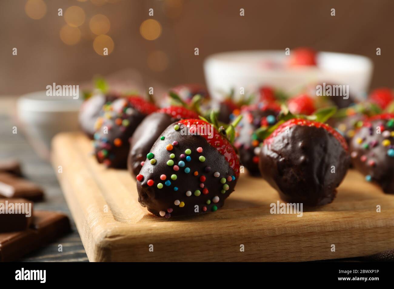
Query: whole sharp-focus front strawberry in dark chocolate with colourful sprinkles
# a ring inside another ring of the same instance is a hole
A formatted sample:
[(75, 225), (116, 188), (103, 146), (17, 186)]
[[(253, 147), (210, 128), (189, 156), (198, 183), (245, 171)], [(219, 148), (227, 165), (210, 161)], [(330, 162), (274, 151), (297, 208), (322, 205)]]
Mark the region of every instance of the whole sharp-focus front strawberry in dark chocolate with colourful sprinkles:
[(219, 133), (198, 119), (169, 125), (136, 177), (140, 204), (166, 218), (214, 212), (223, 206), (240, 174), (238, 155), (225, 134), (233, 139), (234, 127)]

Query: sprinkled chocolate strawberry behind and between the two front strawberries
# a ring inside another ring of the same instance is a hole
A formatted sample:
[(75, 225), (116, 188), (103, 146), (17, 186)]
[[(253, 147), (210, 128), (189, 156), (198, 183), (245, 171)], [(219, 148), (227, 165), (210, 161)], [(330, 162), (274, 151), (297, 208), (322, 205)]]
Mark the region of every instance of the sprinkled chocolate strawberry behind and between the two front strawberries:
[(259, 127), (269, 127), (277, 123), (281, 108), (276, 103), (254, 104), (242, 107), (242, 120), (236, 127), (234, 146), (240, 154), (241, 164), (251, 175), (260, 175), (258, 158), (260, 155), (260, 140), (255, 134)]

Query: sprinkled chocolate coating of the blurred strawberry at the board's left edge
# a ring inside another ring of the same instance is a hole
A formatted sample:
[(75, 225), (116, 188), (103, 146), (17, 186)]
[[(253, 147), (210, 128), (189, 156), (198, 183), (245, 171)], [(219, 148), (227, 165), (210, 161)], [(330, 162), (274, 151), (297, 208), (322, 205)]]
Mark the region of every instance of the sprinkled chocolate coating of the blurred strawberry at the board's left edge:
[[(99, 163), (110, 168), (126, 168), (129, 138), (146, 114), (134, 109), (127, 99), (122, 98), (113, 101), (112, 108), (112, 111), (105, 112), (100, 128), (94, 134), (95, 155)], [(122, 121), (120, 125), (116, 123), (118, 119)], [(125, 125), (124, 121), (128, 124)], [(105, 127), (108, 127), (107, 134), (104, 133)], [(120, 140), (121, 144), (115, 145), (115, 140)]]

